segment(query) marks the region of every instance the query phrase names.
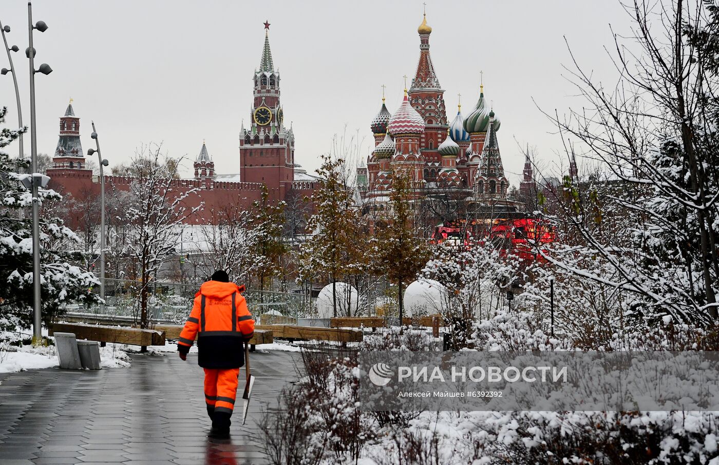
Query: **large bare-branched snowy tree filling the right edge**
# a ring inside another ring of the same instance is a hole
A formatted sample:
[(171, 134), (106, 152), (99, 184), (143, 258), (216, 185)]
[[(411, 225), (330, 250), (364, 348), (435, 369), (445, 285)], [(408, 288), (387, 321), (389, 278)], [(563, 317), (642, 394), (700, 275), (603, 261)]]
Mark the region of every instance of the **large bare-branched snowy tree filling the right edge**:
[(553, 219), (573, 241), (547, 259), (612, 289), (627, 317), (711, 323), (719, 310), (719, 12), (682, 0), (636, 0), (628, 11), (635, 30), (628, 44), (614, 36), (616, 85), (598, 83), (572, 57), (587, 102), (552, 117), (606, 179), (564, 178)]

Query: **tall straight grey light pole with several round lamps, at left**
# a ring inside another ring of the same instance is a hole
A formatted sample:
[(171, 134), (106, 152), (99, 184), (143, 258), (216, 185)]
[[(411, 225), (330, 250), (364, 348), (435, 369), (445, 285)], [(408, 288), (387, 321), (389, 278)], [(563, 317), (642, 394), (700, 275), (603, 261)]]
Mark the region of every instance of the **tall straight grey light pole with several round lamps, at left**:
[[(32, 3), (27, 2), (27, 29), (29, 36), (29, 47), (25, 55), (30, 59), (30, 155), (32, 178), (35, 180), (37, 174), (37, 127), (35, 124), (35, 48), (32, 47), (32, 29), (40, 32), (47, 31), (47, 24), (38, 21), (32, 25)], [(37, 70), (42, 74), (52, 73), (47, 63), (42, 63)], [(37, 182), (32, 183), (32, 339), (35, 344), (42, 340), (42, 306), (40, 301), (40, 198), (37, 196)]]

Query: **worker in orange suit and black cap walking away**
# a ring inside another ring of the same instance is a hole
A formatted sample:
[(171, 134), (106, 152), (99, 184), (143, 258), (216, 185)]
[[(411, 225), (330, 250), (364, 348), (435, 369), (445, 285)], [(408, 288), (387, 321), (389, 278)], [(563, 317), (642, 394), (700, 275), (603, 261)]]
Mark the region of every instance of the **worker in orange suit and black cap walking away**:
[(255, 321), (242, 297), (244, 286), (229, 282), (217, 271), (195, 294), (195, 303), (178, 339), (180, 359), (186, 360), (197, 337), (198, 364), (205, 369), (205, 402), (211, 434), (229, 433), (244, 346), (255, 333)]

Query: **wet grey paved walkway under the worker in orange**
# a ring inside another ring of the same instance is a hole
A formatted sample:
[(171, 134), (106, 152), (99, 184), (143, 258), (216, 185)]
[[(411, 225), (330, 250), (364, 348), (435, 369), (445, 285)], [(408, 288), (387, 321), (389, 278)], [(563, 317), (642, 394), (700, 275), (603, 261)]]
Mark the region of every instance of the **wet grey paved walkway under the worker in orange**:
[(267, 464), (262, 407), (296, 379), (292, 352), (251, 355), (257, 375), (241, 424), (244, 369), (229, 440), (210, 440), (197, 355), (133, 355), (129, 369), (0, 374), (0, 464)]

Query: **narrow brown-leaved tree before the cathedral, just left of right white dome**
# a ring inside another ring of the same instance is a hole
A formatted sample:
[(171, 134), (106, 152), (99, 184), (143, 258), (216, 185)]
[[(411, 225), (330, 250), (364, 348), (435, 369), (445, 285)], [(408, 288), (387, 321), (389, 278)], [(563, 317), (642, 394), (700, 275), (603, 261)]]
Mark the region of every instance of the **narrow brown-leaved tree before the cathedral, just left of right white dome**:
[(429, 244), (417, 226), (412, 191), (411, 174), (393, 170), (387, 217), (376, 226), (372, 250), (375, 270), (397, 284), (400, 321), (404, 313), (403, 285), (418, 275), (430, 256)]

